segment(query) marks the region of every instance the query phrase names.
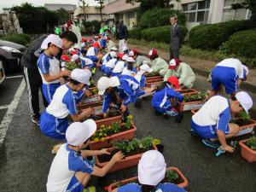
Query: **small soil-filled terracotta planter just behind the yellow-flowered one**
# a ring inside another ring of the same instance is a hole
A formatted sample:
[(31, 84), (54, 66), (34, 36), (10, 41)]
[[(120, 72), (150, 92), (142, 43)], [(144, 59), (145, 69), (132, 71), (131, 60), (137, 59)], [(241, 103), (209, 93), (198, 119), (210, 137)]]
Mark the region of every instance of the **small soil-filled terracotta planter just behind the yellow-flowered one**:
[(123, 115), (119, 110), (113, 110), (108, 112), (107, 118), (103, 117), (103, 113), (98, 113), (91, 118), (96, 121), (97, 129), (100, 129), (102, 125), (111, 125), (112, 123), (119, 122)]

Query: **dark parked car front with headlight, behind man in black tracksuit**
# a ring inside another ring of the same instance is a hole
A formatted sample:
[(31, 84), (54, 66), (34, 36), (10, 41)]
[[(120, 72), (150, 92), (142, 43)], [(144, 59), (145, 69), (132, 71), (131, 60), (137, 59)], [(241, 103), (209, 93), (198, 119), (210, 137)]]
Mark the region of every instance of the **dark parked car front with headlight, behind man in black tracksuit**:
[(9, 41), (0, 40), (0, 61), (5, 73), (20, 68), (20, 58), (26, 47)]

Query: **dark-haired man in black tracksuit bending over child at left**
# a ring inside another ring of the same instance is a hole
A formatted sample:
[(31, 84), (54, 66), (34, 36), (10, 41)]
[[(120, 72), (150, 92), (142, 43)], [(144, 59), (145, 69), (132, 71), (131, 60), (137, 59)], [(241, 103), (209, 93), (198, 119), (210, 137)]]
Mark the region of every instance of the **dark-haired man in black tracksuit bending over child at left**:
[[(24, 76), (26, 79), (26, 88), (28, 92), (28, 103), (30, 112), (32, 115), (32, 122), (38, 125), (38, 121), (40, 119), (40, 108), (39, 108), (39, 89), (42, 91), (42, 78), (38, 71), (37, 61), (39, 55), (44, 51), (41, 48), (41, 44), (44, 39), (47, 38), (47, 35), (38, 38), (30, 44), (30, 46), (26, 49), (26, 52), (21, 58), (21, 65), (24, 67)], [(62, 40), (63, 49), (69, 49), (73, 44), (78, 43), (78, 38), (73, 32), (62, 32), (60, 35)], [(55, 57), (57, 59), (61, 59), (62, 51), (59, 55)], [(44, 99), (44, 106), (47, 107), (48, 103)]]

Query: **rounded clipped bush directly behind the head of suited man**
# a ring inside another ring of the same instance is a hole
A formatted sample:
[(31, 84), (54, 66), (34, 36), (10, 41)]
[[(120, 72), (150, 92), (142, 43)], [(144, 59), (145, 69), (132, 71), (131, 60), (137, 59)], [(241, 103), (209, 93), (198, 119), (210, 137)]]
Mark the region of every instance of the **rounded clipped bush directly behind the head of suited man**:
[(152, 28), (158, 26), (167, 26), (170, 25), (170, 16), (177, 15), (177, 23), (180, 26), (184, 26), (186, 23), (186, 16), (174, 9), (160, 9), (155, 8), (146, 11), (142, 17), (138, 20), (138, 26), (145, 29), (145, 28)]

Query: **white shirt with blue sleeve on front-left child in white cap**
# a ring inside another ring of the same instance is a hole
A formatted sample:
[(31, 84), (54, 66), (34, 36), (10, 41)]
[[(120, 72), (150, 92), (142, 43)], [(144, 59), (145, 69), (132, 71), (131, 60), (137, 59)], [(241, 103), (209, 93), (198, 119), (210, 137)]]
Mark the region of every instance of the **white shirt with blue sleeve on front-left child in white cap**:
[(66, 192), (75, 172), (93, 172), (90, 162), (83, 160), (81, 155), (67, 143), (61, 145), (49, 169), (47, 192)]

